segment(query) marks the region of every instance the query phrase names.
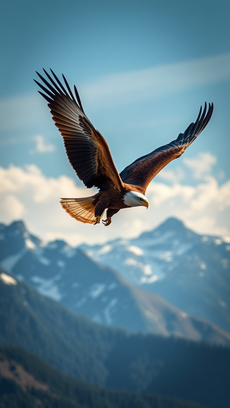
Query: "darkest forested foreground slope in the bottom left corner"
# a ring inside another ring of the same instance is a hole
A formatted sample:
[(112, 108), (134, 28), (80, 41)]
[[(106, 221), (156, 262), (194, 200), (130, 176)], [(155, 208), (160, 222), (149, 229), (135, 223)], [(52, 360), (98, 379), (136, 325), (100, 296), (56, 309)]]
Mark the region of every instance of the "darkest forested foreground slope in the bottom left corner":
[(67, 377), (44, 361), (19, 348), (0, 347), (0, 364), (8, 362), (15, 373), (18, 364), (33, 375), (47, 390), (27, 386), (22, 389), (14, 380), (0, 376), (0, 408), (201, 408), (167, 397), (136, 395), (125, 391), (106, 390)]

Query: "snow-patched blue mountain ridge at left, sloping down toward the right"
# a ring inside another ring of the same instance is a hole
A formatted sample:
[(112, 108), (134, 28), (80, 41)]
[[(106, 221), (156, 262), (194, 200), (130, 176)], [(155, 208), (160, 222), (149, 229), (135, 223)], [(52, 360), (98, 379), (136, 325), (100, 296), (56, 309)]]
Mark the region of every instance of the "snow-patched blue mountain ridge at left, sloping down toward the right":
[(100, 266), (63, 241), (43, 246), (23, 222), (0, 225), (4, 268), (94, 322), (127, 330), (175, 335), (210, 344), (230, 344), (230, 335), (187, 315), (158, 295), (132, 287), (112, 269)]

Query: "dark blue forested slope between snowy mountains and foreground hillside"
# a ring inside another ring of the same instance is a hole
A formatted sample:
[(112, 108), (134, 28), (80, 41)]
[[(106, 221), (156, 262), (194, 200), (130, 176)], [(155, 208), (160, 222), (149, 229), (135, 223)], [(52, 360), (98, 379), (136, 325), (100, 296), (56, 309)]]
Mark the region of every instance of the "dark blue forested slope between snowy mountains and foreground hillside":
[[(229, 407), (230, 348), (173, 337), (129, 334), (99, 326), (2, 273), (0, 271), (0, 344), (24, 348), (67, 375), (106, 388), (142, 395), (167, 395), (209, 408)], [(9, 355), (13, 359), (12, 353)], [(65, 388), (70, 390), (70, 382), (66, 384), (66, 379), (61, 377), (59, 381), (58, 373), (55, 380), (51, 371), (47, 373), (48, 368), (33, 364), (31, 358), (25, 361), (24, 357), (20, 353), (14, 355), (24, 367), (26, 362), (27, 371), (37, 375), (39, 382), (49, 378), (48, 385), (53, 381), (53, 386), (60, 388), (62, 394)], [(14, 362), (11, 373), (13, 365)], [(1, 384), (0, 395), (5, 389)], [(55, 395), (56, 391), (53, 397)], [(2, 403), (2, 395), (0, 401)], [(7, 408), (12, 406), (15, 405), (11, 402)], [(50, 407), (50, 404), (44, 406)], [(130, 408), (132, 404), (122, 406)], [(152, 402), (148, 408), (154, 406)], [(166, 406), (175, 404), (169, 402)], [(62, 408), (62, 405), (55, 407)]]

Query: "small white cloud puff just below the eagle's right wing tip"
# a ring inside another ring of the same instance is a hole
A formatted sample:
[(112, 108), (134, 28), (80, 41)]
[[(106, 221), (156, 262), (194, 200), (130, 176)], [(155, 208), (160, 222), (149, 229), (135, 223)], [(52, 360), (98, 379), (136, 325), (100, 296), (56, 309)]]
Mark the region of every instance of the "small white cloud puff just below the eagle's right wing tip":
[(193, 171), (195, 179), (202, 179), (206, 174), (210, 173), (213, 164), (216, 164), (217, 158), (211, 153), (198, 153), (193, 159), (184, 159), (184, 164)]

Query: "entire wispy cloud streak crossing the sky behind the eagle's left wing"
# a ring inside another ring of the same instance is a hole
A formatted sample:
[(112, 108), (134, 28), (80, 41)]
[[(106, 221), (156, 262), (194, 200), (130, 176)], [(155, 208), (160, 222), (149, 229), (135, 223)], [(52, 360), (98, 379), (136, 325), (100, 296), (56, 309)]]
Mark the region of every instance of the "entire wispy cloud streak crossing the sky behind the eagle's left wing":
[[(85, 104), (111, 106), (154, 99), (230, 78), (230, 54), (105, 75), (79, 87)], [(77, 80), (77, 78), (76, 78)], [(19, 129), (50, 122), (38, 94), (0, 100), (0, 129)]]

